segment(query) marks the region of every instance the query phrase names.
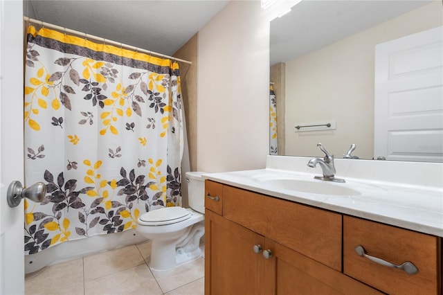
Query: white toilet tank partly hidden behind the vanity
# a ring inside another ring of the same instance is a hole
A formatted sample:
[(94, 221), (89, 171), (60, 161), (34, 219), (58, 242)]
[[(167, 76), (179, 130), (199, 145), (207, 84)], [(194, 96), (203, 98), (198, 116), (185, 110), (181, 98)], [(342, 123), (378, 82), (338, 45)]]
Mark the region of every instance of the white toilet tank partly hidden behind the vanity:
[(186, 172), (188, 182), (188, 204), (199, 212), (205, 213), (205, 181), (201, 178), (206, 172)]

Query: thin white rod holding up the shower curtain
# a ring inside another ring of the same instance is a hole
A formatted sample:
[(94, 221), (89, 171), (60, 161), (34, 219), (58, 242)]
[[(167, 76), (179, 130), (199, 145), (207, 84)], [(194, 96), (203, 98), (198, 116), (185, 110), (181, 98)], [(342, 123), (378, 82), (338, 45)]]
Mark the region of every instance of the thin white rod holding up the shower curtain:
[(94, 35), (89, 35), (87, 33), (82, 33), (82, 32), (79, 32), (78, 30), (71, 30), (69, 28), (64, 28), (62, 26), (57, 26), (57, 25), (54, 25), (54, 24), (49, 24), (49, 23), (46, 23), (44, 21), (39, 21), (37, 19), (31, 19), (30, 17), (23, 17), (23, 19), (24, 19), (24, 21), (29, 21), (29, 22), (34, 23), (34, 24), (39, 24), (39, 25), (42, 25), (42, 26), (46, 26), (48, 28), (53, 28), (55, 30), (60, 30), (62, 32), (66, 32), (66, 33), (70, 33), (70, 34), (75, 34), (75, 35), (78, 35), (78, 36), (84, 36), (87, 39), (95, 39), (97, 41), (105, 42), (107, 44), (112, 44), (112, 45), (116, 45), (116, 46), (120, 46), (120, 47), (125, 47), (125, 48), (131, 49), (133, 51), (138, 51), (138, 52), (141, 52), (141, 53), (147, 53), (147, 54), (157, 55), (159, 57), (169, 58), (171, 60), (175, 60), (176, 62), (184, 62), (186, 64), (192, 64), (192, 62), (189, 62), (188, 60), (181, 60), (181, 59), (173, 57), (173, 56), (164, 55), (164, 54), (161, 54), (161, 53), (156, 53), (154, 51), (148, 51), (146, 49), (137, 48), (135, 46), (131, 46), (131, 45), (127, 45), (127, 44), (122, 44), (120, 42), (115, 42), (115, 41), (112, 41), (112, 40), (109, 40), (109, 39), (97, 37), (97, 36), (94, 36)]

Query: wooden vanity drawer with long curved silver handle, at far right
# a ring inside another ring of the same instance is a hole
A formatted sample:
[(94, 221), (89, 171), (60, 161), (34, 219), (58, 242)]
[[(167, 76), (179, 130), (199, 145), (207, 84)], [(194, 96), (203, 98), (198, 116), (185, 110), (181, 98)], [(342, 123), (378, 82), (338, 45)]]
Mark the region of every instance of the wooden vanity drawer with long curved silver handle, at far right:
[[(369, 256), (395, 265), (409, 261), (416, 274), (380, 265), (359, 256), (362, 246)], [(441, 238), (386, 224), (343, 217), (343, 271), (388, 294), (440, 294)]]

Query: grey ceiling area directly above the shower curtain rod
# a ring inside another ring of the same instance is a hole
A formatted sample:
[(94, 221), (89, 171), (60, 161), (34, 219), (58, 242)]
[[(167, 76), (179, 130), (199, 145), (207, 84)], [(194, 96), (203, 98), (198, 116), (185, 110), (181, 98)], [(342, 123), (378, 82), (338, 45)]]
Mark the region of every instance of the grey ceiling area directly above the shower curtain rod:
[(24, 15), (82, 33), (172, 55), (229, 0), (26, 0)]

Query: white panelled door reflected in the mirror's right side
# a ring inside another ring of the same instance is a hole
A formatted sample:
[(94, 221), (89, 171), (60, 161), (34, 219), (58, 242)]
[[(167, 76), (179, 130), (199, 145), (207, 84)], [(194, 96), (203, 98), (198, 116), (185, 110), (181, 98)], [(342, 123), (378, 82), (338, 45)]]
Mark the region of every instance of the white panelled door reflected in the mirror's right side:
[(374, 158), (443, 162), (443, 27), (375, 46)]

